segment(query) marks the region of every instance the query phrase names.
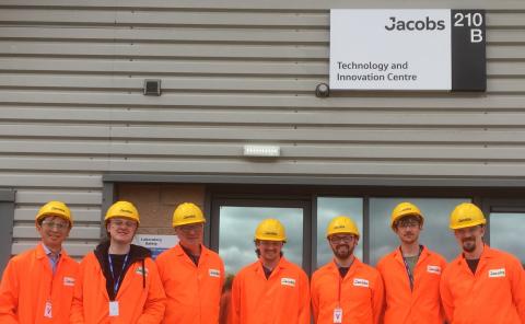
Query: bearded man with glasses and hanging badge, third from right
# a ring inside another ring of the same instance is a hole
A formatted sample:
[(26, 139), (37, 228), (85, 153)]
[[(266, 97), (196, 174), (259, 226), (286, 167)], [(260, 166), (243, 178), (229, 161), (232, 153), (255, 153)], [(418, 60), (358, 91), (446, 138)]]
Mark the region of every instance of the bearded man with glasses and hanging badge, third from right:
[(334, 261), (312, 276), (312, 309), (316, 324), (380, 323), (383, 280), (373, 267), (353, 255), (359, 231), (346, 216), (334, 218), (326, 229)]

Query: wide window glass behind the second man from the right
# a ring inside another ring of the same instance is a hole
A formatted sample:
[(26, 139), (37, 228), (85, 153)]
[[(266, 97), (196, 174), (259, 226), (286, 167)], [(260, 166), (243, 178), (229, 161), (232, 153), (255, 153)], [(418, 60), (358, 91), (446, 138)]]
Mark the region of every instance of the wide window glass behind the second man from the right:
[(370, 262), (377, 261), (399, 246), (399, 239), (390, 229), (390, 213), (397, 204), (410, 201), (416, 204), (424, 217), (420, 243), (428, 246), (447, 261), (459, 253), (454, 234), (448, 229), (451, 211), (466, 198), (371, 198), (370, 199)]

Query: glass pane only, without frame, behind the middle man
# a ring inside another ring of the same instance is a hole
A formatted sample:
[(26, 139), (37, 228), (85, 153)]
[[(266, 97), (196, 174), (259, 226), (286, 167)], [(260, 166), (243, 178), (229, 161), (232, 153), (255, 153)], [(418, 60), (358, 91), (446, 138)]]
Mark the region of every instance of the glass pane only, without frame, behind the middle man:
[(284, 256), (301, 266), (303, 261), (303, 209), (277, 207), (220, 207), (219, 254), (229, 274), (257, 259), (254, 245), (256, 227), (266, 218), (276, 218), (287, 230)]

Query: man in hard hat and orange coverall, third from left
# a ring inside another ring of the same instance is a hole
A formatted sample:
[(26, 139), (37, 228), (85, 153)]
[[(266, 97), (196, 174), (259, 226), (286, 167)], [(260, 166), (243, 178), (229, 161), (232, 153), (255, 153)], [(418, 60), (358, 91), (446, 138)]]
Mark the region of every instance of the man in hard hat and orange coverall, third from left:
[(191, 202), (173, 212), (178, 244), (156, 257), (167, 297), (163, 323), (219, 323), (224, 263), (202, 244), (205, 222), (202, 210)]

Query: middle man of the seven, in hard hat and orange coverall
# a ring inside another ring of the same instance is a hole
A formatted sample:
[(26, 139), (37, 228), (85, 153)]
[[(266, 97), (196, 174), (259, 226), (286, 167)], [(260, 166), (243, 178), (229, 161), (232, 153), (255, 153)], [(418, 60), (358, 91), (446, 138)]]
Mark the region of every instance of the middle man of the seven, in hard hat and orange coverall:
[(285, 241), (279, 220), (259, 223), (255, 231), (259, 259), (233, 279), (230, 323), (310, 324), (308, 277), (282, 256)]

